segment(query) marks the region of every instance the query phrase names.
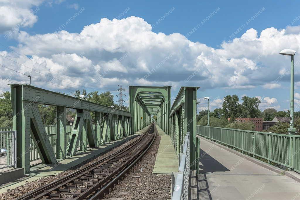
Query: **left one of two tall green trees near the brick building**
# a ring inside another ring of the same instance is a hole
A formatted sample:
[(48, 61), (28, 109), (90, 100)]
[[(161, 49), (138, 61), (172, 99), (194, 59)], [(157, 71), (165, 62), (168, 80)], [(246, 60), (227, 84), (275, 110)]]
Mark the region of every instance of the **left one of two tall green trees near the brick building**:
[(238, 100), (238, 96), (235, 94), (224, 97), (220, 110), (223, 118), (227, 119), (230, 116), (239, 117), (241, 115), (241, 105), (238, 103)]

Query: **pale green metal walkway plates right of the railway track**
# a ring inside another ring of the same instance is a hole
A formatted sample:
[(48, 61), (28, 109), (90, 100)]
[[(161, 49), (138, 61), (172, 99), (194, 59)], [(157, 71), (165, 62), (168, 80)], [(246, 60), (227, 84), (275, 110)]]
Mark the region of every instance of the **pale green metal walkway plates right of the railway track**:
[(158, 125), (156, 125), (156, 128), (158, 135), (161, 136), (161, 141), (152, 174), (172, 174), (172, 172), (178, 172), (179, 160), (171, 138)]

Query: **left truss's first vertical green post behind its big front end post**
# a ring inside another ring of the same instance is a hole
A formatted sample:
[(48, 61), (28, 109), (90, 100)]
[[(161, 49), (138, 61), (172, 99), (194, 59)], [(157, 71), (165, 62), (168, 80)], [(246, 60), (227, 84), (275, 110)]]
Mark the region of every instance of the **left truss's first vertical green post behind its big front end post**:
[(66, 158), (66, 107), (56, 106), (56, 158)]

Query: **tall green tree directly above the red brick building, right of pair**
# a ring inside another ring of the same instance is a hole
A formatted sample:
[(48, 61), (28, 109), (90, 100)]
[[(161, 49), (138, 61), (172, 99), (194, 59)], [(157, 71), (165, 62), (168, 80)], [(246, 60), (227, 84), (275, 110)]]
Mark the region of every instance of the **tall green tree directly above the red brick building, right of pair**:
[(242, 98), (243, 102), (241, 105), (242, 117), (255, 118), (260, 114), (259, 104), (261, 101), (257, 97), (247, 97)]

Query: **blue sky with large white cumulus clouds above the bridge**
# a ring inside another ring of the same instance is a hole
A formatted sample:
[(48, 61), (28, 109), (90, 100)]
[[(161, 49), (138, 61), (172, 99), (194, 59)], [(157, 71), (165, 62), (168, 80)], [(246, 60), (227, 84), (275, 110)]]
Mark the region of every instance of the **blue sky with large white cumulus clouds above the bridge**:
[[(180, 86), (200, 86), (197, 97), (201, 103), (198, 111), (205, 108), (202, 97), (210, 96), (214, 100), (212, 108), (216, 108), (228, 94), (238, 94), (240, 98), (242, 95), (259, 96), (262, 100), (261, 109), (274, 107), (283, 110), (289, 107), (289, 74), (283, 76), (283, 72), (289, 68), (289, 58), (275, 52), (279, 52), (282, 48), (295, 50), (299, 48), (298, 43), (295, 42), (299, 41), (297, 39), (300, 32), (299, 2), (124, 1), (116, 3), (67, 0), (11, 2), (0, 3), (0, 8), (5, 8), (4, 11), (10, 17), (7, 18), (7, 22), (0, 23), (2, 31), (0, 43), (33, 58), (34, 62), (21, 58), (0, 46), (2, 55), (39, 71), (40, 64), (44, 63), (51, 70), (43, 72), (51, 76), (54, 76), (57, 70), (63, 69), (67, 61), (73, 59), (77, 64), (76, 67), (67, 67), (64, 71), (71, 77), (59, 78), (65, 80), (61, 83), (56, 79), (55, 84), (69, 85), (74, 81), (73, 79), (76, 79), (77, 85), (88, 87), (87, 89), (99, 88), (101, 91), (113, 90), (118, 84), (126, 87), (131, 84), (167, 84), (173, 86), (172, 95), (175, 96)], [(79, 13), (79, 10), (82, 12)], [(2, 14), (6, 14), (5, 12)], [(27, 24), (22, 20), (28, 14), (22, 15), (20, 12), (32, 13), (29, 19), (26, 19)], [(70, 20), (74, 15), (76, 17)], [(107, 18), (108, 21), (103, 20), (99, 23), (103, 18)], [(115, 18), (120, 21), (112, 22)], [(68, 20), (69, 23), (66, 24)], [(149, 25), (152, 25), (152, 28), (149, 29)], [(13, 31), (10, 37), (5, 37), (7, 32), (16, 26), (17, 30)], [(73, 34), (80, 33), (85, 26), (88, 30), (86, 33), (79, 36)], [(61, 32), (59, 27), (67, 33)], [(262, 31), (265, 34), (260, 37)], [(89, 35), (89, 32), (94, 33)], [(127, 34), (123, 35), (124, 32)], [(89, 40), (89, 38), (93, 39)], [(110, 42), (113, 45), (110, 46)], [(76, 44), (80, 45), (76, 46)], [(91, 48), (88, 48), (89, 46)], [(38, 55), (35, 55), (37, 52)], [(80, 52), (85, 53), (80, 56)], [(130, 52), (130, 55), (120, 60), (125, 52)], [(170, 59), (169, 57), (166, 59), (168, 55), (172, 55)], [(295, 61), (298, 59), (296, 54)], [(165, 60), (163, 67), (155, 70), (145, 81), (147, 71), (151, 71), (162, 60)], [(1, 61), (1, 64), (9, 65), (15, 70), (26, 74), (31, 73), (24, 66), (11, 65), (5, 58)], [(105, 77), (102, 77), (104, 79), (98, 80), (94, 75), (95, 71), (101, 74), (110, 65), (115, 66), (114, 70), (110, 70)], [(90, 71), (83, 74), (85, 78), (82, 77), (82, 69)], [(184, 81), (195, 71), (197, 75), (192, 75), (191, 81)], [(300, 81), (300, 73), (297, 71), (295, 66), (295, 93), (299, 92), (298, 86), (300, 86), (297, 83)], [(9, 76), (10, 72), (6, 70), (1, 78), (7, 79)], [(35, 77), (47, 79), (39, 73), (35, 74)], [(281, 78), (276, 82), (277, 77)], [(26, 78), (18, 74), (10, 81), (24, 82)], [(98, 86), (99, 82), (103, 85)], [(1, 83), (5, 84), (5, 81), (2, 80)], [(55, 88), (45, 82), (37, 86), (70, 91)], [(295, 103), (300, 103), (300, 100)]]

